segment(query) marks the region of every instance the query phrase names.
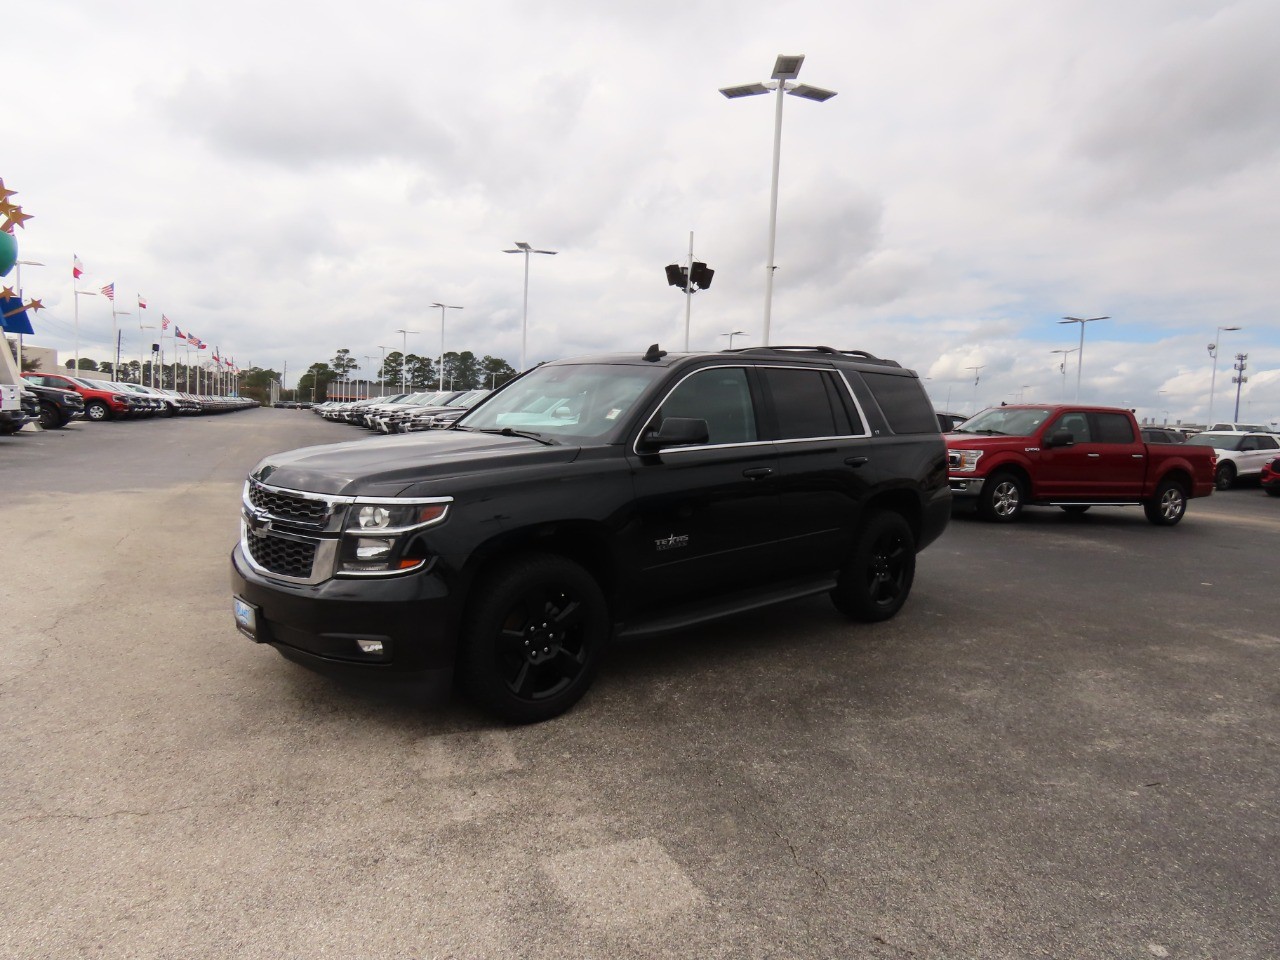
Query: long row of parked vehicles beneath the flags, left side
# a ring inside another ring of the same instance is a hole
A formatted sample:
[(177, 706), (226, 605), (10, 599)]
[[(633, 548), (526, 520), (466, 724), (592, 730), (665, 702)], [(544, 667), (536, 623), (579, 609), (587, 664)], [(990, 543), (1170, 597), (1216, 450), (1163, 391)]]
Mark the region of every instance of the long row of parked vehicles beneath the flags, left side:
[[(67, 426), (81, 416), (95, 421), (137, 420), (154, 416), (223, 413), (257, 406), (256, 401), (242, 397), (197, 396), (69, 374), (27, 371), (22, 378), (24, 406), (29, 406), (28, 419), (38, 421), (46, 430)], [(22, 424), (17, 424), (14, 429), (17, 426)]]

